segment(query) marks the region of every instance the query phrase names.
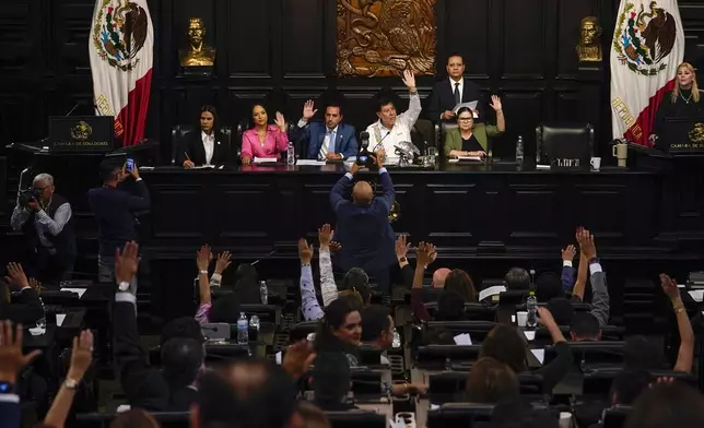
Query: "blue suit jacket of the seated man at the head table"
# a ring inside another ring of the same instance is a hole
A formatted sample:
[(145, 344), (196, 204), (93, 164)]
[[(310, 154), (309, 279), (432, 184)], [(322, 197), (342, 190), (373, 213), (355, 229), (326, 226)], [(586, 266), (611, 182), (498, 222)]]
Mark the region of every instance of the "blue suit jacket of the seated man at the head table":
[[(296, 142), (298, 150), (307, 159), (317, 159), (327, 127), (324, 122), (308, 122), (305, 127), (296, 127), (293, 130), (293, 140)], [(330, 153), (340, 153), (343, 158), (356, 156), (356, 131), (354, 127), (347, 123), (338, 124), (337, 135), (335, 139), (335, 147)]]

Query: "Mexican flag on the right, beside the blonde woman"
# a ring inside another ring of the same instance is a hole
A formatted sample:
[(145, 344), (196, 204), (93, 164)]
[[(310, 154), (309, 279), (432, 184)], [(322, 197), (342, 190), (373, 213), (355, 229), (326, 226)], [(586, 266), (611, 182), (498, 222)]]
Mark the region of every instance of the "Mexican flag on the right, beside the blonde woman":
[(677, 0), (621, 0), (610, 51), (613, 138), (649, 145), (660, 99), (684, 58)]

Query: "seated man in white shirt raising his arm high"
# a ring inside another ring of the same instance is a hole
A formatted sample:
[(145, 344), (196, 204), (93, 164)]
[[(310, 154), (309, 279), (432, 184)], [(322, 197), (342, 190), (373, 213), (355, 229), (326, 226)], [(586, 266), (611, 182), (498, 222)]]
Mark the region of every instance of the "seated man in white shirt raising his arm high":
[(409, 90), (408, 110), (397, 116), (394, 102), (390, 98), (380, 97), (376, 109), (379, 120), (366, 128), (366, 132), (369, 133), (371, 151), (377, 153), (377, 156), (379, 156), (379, 151), (384, 151), (380, 157), (385, 159), (385, 164), (398, 162), (396, 146), (403, 141), (411, 141), (411, 129), (422, 110), (421, 98), (415, 91), (413, 72), (406, 70), (402, 80)]

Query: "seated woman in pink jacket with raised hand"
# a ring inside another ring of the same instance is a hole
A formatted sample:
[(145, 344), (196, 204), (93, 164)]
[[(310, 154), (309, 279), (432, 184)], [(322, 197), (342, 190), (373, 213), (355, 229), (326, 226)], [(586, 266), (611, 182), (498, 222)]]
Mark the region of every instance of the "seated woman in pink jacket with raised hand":
[(263, 106), (257, 104), (251, 109), (254, 128), (242, 134), (242, 164), (249, 165), (255, 157), (279, 157), (289, 147), (286, 121), (277, 111), (275, 126), (269, 124), (269, 116)]

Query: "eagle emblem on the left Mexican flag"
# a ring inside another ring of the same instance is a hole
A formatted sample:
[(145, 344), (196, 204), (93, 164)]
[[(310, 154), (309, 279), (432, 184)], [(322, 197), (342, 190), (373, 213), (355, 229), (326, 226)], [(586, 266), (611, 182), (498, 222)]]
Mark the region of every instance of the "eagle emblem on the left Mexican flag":
[(103, 0), (93, 23), (93, 45), (103, 61), (121, 71), (139, 63), (137, 54), (146, 41), (146, 11), (129, 0)]

